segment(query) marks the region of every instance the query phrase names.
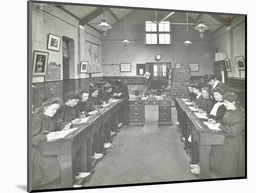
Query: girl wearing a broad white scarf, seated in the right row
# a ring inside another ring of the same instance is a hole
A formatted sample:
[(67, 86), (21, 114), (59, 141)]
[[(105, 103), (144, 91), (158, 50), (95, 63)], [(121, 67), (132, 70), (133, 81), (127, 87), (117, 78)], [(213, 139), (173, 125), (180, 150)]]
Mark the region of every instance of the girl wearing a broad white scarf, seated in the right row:
[(217, 103), (213, 106), (209, 114), (202, 113), (202, 115), (207, 116), (209, 119), (219, 120), (223, 118), (226, 112), (226, 107), (224, 106), (224, 102), (222, 101), (222, 96), (224, 95), (224, 92), (221, 88), (215, 88), (213, 90), (213, 93)]

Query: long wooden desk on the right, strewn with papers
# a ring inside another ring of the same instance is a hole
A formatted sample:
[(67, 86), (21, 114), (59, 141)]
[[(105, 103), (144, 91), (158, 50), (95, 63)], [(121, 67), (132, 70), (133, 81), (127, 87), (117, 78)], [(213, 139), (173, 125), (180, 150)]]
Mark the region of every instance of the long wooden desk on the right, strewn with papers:
[[(175, 98), (175, 105), (177, 111), (179, 111), (178, 120), (182, 126), (182, 134), (185, 137), (185, 148), (191, 148), (190, 163), (200, 163), (200, 179), (209, 179), (209, 154), (211, 146), (222, 145), (225, 136), (228, 136), (228, 134), (223, 131), (211, 130), (205, 126), (203, 124), (204, 120), (197, 118), (181, 98)], [(191, 135), (191, 143), (188, 142), (189, 135)]]

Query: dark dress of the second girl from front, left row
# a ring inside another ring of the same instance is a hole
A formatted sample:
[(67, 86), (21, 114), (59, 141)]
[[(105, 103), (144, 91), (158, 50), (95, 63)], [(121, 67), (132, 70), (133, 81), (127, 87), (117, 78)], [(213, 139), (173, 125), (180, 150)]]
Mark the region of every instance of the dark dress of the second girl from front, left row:
[(56, 116), (65, 122), (70, 122), (74, 119), (80, 118), (81, 112), (78, 107), (70, 107), (67, 104), (62, 104), (60, 109), (57, 111)]

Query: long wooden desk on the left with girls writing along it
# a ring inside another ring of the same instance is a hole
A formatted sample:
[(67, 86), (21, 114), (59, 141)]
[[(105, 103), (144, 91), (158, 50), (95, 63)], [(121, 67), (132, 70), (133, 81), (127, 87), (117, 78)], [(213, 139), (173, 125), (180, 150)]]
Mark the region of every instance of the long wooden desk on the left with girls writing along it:
[(37, 145), (40, 146), (43, 156), (57, 155), (57, 159), (61, 165), (61, 186), (73, 187), (73, 161), (77, 151), (80, 149), (81, 170), (87, 172), (95, 166), (95, 160), (92, 159), (92, 139), (96, 134), (97, 150), (103, 152), (104, 149), (104, 130), (108, 129), (107, 135), (110, 136), (110, 128), (117, 128), (118, 111), (123, 99), (119, 99), (116, 103), (111, 103), (109, 107), (103, 109), (101, 115), (91, 116), (88, 122), (78, 124), (74, 132), (56, 141), (44, 141)]

